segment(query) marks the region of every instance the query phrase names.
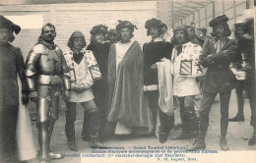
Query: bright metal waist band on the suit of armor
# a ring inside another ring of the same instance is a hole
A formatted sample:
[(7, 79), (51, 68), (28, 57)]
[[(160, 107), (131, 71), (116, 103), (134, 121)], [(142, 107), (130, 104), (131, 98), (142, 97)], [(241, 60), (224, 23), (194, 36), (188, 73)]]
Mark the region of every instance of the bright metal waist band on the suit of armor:
[(62, 80), (59, 76), (47, 76), (47, 75), (39, 75), (37, 82), (39, 84), (61, 84)]

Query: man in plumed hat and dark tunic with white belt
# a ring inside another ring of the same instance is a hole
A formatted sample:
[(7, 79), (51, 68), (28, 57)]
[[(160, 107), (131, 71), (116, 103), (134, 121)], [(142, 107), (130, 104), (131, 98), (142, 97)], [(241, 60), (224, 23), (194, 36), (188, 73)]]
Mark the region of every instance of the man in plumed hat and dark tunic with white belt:
[[(151, 35), (152, 41), (145, 43), (143, 46), (144, 52), (144, 84), (146, 87), (145, 97), (148, 98), (153, 115), (154, 130), (157, 125), (157, 115), (160, 115), (160, 131), (156, 133), (159, 136), (160, 142), (166, 141), (170, 130), (174, 125), (174, 116), (170, 116), (169, 113), (164, 113), (160, 109), (160, 92), (159, 92), (159, 77), (158, 68), (156, 64), (163, 58), (170, 60), (172, 44), (164, 42), (161, 36), (167, 29), (166, 25), (161, 23), (160, 20), (151, 19), (145, 24), (148, 29), (147, 34)], [(168, 81), (170, 82), (170, 81)], [(173, 98), (172, 96), (170, 98)]]

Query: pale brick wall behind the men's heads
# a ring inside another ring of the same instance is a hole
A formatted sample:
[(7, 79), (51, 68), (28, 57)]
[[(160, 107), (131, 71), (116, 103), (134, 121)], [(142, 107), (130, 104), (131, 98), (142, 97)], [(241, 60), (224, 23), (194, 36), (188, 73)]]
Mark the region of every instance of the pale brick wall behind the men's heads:
[[(110, 2), (110, 3), (74, 3), (49, 5), (17, 5), (0, 6), (0, 14), (4, 16), (42, 15), (43, 24), (52, 23), (56, 26), (57, 37), (55, 43), (63, 51), (67, 50), (67, 41), (71, 33), (81, 30), (90, 43), (90, 30), (102, 24), (113, 28), (118, 20), (127, 20), (139, 29), (134, 31), (134, 39), (141, 44), (149, 41), (144, 27), (148, 19), (157, 17), (157, 2)], [(13, 42), (22, 49), (25, 59), (36, 43), (40, 28), (22, 29)]]

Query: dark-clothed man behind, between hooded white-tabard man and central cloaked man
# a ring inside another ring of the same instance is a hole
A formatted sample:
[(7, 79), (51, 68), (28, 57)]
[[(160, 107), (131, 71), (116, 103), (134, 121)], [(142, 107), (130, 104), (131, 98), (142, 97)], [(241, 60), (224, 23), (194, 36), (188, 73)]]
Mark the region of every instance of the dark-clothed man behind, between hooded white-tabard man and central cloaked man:
[[(107, 116), (108, 105), (108, 90), (107, 90), (107, 60), (109, 54), (110, 43), (104, 42), (107, 27), (98, 25), (91, 30), (91, 43), (88, 45), (87, 50), (92, 50), (98, 64), (99, 71), (102, 79), (96, 80), (92, 86), (95, 95), (96, 107), (100, 112), (100, 133), (102, 134)], [(89, 124), (89, 123), (87, 123)], [(87, 127), (87, 126), (85, 126)], [(83, 130), (83, 139), (90, 139), (88, 127)]]

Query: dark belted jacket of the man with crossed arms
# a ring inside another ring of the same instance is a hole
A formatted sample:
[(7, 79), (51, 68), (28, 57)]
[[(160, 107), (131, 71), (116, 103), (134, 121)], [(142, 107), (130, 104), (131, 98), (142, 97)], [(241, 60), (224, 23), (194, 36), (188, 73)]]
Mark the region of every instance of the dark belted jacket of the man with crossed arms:
[(236, 79), (230, 71), (229, 65), (236, 55), (237, 44), (232, 39), (226, 38), (224, 47), (219, 53), (216, 53), (212, 39), (205, 41), (203, 54), (200, 57), (202, 66), (208, 68), (203, 91), (224, 92), (235, 87)]

